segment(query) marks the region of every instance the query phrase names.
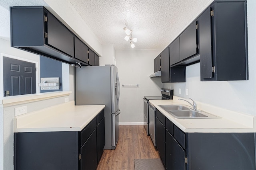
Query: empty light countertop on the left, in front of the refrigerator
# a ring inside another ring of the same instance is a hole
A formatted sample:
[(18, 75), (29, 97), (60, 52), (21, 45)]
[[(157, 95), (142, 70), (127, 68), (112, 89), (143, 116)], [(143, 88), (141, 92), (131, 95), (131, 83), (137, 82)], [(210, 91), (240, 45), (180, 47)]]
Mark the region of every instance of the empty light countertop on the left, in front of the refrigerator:
[(14, 117), (14, 132), (81, 131), (105, 105), (74, 106), (74, 101)]

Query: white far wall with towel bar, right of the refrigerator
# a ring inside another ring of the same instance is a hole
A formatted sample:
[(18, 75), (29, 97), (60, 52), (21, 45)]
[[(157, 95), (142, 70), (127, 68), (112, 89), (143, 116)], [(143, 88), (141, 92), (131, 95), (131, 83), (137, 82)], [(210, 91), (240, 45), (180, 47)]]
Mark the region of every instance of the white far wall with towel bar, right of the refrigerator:
[[(161, 96), (161, 78), (149, 78), (154, 73), (154, 58), (162, 50), (117, 50), (116, 66), (120, 78), (120, 124), (142, 124), (143, 97)], [(122, 84), (139, 86), (122, 87)]]

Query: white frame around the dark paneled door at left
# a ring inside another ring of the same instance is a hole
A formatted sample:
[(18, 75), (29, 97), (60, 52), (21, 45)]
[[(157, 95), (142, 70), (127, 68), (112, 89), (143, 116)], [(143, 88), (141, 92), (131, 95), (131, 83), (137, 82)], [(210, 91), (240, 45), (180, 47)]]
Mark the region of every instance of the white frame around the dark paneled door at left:
[(5, 54), (5, 53), (0, 53), (0, 82), (2, 82), (2, 83), (0, 83), (0, 98), (4, 96), (3, 57), (8, 57), (8, 58), (16, 59), (16, 60), (35, 63), (36, 64), (36, 94), (40, 93), (39, 92), (39, 87), (37, 86), (37, 84), (39, 83), (39, 78), (40, 78), (39, 71), (38, 71), (38, 62), (29, 60), (29, 59), (24, 59), (24, 58), (21, 58), (21, 57), (16, 57), (16, 56), (13, 56), (13, 55), (8, 55), (8, 54)]

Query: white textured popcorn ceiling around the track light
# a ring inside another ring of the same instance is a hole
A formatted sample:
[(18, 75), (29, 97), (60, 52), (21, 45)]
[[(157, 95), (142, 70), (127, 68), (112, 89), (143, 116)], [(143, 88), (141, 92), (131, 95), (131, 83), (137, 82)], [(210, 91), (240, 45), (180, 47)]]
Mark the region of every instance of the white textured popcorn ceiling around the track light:
[[(54, 0), (60, 3), (61, 0)], [(134, 49), (164, 49), (213, 0), (69, 0), (101, 44), (131, 49), (125, 23), (138, 38)], [(1, 17), (9, 6), (47, 4), (43, 0), (0, 0)], [(68, 13), (69, 11), (67, 11)], [(6, 28), (8, 28), (6, 31)], [(0, 20), (0, 36), (10, 38), (10, 23)]]

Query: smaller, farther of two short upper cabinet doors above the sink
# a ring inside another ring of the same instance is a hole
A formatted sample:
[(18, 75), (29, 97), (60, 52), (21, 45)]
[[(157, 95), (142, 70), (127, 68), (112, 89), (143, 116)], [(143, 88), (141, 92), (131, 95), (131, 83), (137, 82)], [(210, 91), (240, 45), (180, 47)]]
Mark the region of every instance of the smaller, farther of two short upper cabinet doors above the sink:
[(180, 61), (180, 37), (175, 39), (169, 46), (170, 65)]

